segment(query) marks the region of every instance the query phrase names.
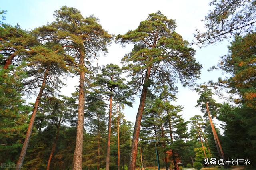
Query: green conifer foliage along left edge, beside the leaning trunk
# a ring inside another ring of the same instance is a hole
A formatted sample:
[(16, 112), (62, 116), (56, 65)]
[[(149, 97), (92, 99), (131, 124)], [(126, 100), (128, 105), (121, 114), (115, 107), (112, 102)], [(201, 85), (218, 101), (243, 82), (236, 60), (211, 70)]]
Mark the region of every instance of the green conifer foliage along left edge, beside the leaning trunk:
[(15, 162), (28, 127), (31, 108), (21, 94), (24, 77), (20, 67), (0, 67), (0, 162)]

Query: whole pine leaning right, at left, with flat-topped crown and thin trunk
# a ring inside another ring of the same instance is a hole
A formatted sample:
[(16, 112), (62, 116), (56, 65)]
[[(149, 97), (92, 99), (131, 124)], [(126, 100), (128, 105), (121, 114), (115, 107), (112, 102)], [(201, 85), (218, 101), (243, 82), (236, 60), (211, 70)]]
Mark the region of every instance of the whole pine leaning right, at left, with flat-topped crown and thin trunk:
[[(47, 46), (49, 48), (47, 48)], [(34, 91), (38, 88), (40, 88), (40, 90), (34, 104), (34, 109), (30, 118), (26, 138), (24, 140), (20, 157), (17, 162), (17, 169), (19, 170), (22, 167), (23, 160), (26, 155), (28, 142), (32, 133), (34, 121), (36, 119), (36, 113), (38, 111), (38, 105), (40, 104), (41, 97), (47, 94), (44, 92), (44, 90), (52, 93), (55, 89), (60, 88), (62, 83), (58, 77), (63, 73), (63, 71), (69, 69), (66, 67), (66, 65), (69, 61), (72, 61), (72, 59), (70, 59), (68, 56), (63, 55), (62, 50), (56, 50), (58, 46), (53, 46), (52, 49), (50, 47), (52, 47), (51, 43), (46, 43), (45, 46), (36, 46), (33, 48), (33, 50), (36, 51), (36, 54), (27, 58), (27, 73), (32, 78), (24, 81), (24, 85), (27, 87), (25, 90)]]

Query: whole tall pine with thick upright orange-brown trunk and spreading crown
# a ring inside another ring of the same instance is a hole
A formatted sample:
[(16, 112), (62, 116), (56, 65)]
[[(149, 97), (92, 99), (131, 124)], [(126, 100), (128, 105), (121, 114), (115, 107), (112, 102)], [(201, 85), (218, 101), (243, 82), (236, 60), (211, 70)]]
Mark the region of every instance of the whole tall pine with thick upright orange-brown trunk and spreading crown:
[[(37, 31), (42, 40), (57, 41), (71, 55), (76, 63), (72, 66), (79, 79), (79, 104), (74, 152), (73, 169), (82, 169), (83, 132), (84, 132), (84, 86), (86, 77), (92, 74), (91, 61), (98, 57), (98, 52), (107, 52), (111, 35), (108, 34), (94, 16), (84, 18), (76, 8), (63, 6), (54, 13), (55, 22), (40, 27)], [(47, 37), (44, 38), (44, 36)]]

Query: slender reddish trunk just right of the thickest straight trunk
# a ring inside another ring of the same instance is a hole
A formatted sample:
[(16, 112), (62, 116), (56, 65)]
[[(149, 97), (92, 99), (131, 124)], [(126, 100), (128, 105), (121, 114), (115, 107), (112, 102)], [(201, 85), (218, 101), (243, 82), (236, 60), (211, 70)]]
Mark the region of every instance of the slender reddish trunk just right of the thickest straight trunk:
[(107, 155), (106, 155), (106, 170), (109, 170), (109, 159), (110, 159), (111, 114), (112, 114), (112, 94), (110, 95), (110, 100), (109, 100), (108, 143), (107, 143)]

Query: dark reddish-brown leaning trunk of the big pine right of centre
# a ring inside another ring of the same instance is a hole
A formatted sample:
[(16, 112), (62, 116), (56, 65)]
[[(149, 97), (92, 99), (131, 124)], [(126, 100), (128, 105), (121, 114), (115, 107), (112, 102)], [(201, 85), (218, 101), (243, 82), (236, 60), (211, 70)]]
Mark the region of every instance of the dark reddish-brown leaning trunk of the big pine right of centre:
[[(152, 61), (152, 59), (153, 59), (153, 57), (150, 59), (150, 62)], [(151, 70), (151, 66), (147, 68), (146, 77), (145, 77), (142, 92), (140, 95), (140, 105), (138, 108), (136, 121), (135, 121), (135, 125), (134, 125), (134, 131), (133, 131), (133, 136), (132, 136), (132, 148), (131, 148), (130, 160), (129, 160), (129, 164), (128, 164), (128, 170), (135, 170), (135, 166), (136, 166), (136, 156), (137, 156), (137, 152), (138, 152), (138, 140), (139, 140), (139, 135), (140, 135), (140, 124), (141, 124), (143, 109), (144, 109), (144, 105), (145, 105), (146, 94), (147, 94), (148, 86), (149, 86), (148, 81), (149, 81), (149, 77), (150, 77), (150, 70)]]

